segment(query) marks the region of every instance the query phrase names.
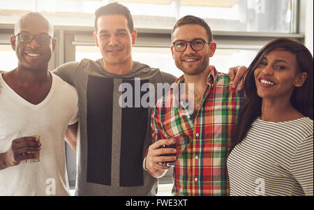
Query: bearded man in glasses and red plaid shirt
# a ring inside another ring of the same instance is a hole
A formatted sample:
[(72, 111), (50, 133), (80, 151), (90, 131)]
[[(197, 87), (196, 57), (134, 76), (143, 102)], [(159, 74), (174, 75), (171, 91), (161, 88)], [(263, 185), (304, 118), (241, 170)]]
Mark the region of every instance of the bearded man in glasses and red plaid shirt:
[[(172, 162), (173, 195), (229, 195), (226, 158), (244, 93), (232, 89), (227, 75), (209, 65), (216, 43), (204, 20), (182, 17), (172, 30), (172, 41), (172, 57), (184, 75), (153, 109), (155, 143), (149, 147), (145, 167), (159, 178), (170, 167), (165, 163)], [(186, 84), (186, 91), (181, 84)], [(191, 88), (194, 100), (188, 96)], [(181, 98), (188, 98), (188, 106), (179, 103)], [(175, 148), (160, 149), (170, 144)]]

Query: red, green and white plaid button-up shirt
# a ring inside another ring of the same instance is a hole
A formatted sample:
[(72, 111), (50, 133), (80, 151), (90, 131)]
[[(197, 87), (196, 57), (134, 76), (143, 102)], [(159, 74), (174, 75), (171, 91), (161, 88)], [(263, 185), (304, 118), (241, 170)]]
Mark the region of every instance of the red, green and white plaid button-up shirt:
[(174, 94), (181, 83), (184, 76), (157, 101), (151, 114), (153, 142), (177, 140), (172, 195), (229, 195), (227, 148), (244, 92), (232, 89), (229, 77), (211, 66), (207, 90), (194, 116), (188, 114), (187, 107), (180, 105)]

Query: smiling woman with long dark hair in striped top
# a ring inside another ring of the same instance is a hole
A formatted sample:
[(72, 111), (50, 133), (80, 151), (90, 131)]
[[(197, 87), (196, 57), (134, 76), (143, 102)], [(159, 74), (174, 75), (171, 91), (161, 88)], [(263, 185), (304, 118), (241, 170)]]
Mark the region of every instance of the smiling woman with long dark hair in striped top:
[(267, 43), (248, 67), (227, 159), (230, 195), (313, 195), (313, 57)]

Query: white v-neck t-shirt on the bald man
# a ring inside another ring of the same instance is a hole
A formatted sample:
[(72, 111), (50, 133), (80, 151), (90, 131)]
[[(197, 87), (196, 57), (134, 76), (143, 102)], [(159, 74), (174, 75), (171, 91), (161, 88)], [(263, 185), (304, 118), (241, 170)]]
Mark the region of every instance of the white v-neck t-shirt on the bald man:
[(77, 121), (74, 87), (52, 74), (46, 98), (33, 105), (19, 96), (0, 74), (0, 153), (22, 136), (40, 135), (40, 161), (0, 170), (0, 195), (70, 195), (64, 135)]

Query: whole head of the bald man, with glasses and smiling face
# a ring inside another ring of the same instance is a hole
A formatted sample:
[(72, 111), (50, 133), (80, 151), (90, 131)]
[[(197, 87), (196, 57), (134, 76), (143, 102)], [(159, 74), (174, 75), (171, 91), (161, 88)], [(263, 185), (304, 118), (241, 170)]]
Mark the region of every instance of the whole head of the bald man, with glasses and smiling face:
[(17, 68), (47, 70), (57, 45), (54, 29), (47, 18), (40, 13), (26, 13), (15, 24), (14, 32), (10, 43), (17, 55)]

